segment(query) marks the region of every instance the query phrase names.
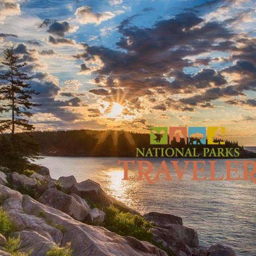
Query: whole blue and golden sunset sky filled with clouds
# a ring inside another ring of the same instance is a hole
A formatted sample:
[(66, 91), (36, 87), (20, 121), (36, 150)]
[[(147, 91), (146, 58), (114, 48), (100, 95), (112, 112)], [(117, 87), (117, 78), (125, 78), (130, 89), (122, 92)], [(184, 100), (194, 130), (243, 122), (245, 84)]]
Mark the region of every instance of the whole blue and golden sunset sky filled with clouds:
[[(256, 145), (254, 0), (0, 0), (38, 130), (225, 126)], [(0, 70), (4, 70), (0, 65)]]

